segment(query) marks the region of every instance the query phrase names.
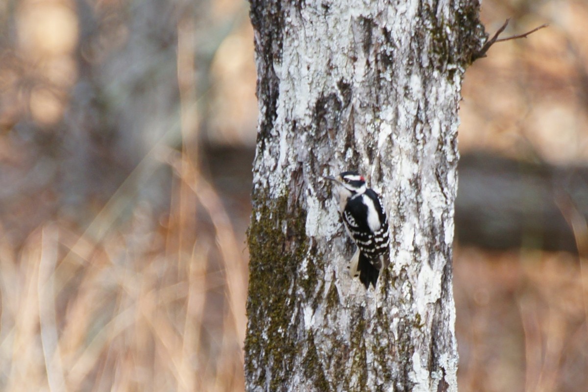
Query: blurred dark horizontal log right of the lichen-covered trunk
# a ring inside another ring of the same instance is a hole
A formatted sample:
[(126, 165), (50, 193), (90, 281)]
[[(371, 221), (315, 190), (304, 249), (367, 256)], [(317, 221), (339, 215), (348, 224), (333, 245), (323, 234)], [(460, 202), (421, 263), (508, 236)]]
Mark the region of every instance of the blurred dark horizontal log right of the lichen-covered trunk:
[(485, 249), (578, 253), (588, 220), (588, 168), (523, 162), (485, 152), (459, 163), (456, 237)]

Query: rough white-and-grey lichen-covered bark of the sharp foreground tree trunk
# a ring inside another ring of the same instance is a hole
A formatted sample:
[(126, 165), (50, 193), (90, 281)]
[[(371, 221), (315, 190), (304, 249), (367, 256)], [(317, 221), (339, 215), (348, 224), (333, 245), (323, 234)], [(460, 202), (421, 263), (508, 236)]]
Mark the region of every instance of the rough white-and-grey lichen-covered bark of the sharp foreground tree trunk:
[[(259, 129), (249, 228), (250, 391), (456, 390), (457, 106), (477, 1), (252, 0)], [(321, 176), (383, 196), (392, 265), (351, 280)]]

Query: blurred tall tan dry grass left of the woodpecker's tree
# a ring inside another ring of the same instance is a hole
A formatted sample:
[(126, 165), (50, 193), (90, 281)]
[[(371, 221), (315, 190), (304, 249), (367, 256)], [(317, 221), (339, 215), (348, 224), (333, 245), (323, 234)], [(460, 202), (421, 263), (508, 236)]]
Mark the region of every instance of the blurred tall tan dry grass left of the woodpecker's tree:
[(139, 205), (99, 240), (48, 222), (0, 244), (0, 389), (243, 390), (242, 234), (176, 169), (167, 216)]

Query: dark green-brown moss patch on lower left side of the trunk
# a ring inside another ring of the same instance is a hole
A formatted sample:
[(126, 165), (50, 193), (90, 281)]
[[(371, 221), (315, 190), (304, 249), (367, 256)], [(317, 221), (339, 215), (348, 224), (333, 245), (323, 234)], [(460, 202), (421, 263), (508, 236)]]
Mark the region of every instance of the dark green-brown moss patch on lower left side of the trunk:
[(277, 199), (270, 199), (265, 191), (253, 195), (247, 233), (250, 261), (245, 371), (248, 378), (257, 378), (256, 385), (265, 384), (269, 377), (272, 391), (286, 385), (299, 350), (293, 314), (297, 309), (296, 270), (308, 253), (305, 223), (306, 212), (298, 205), (289, 205), (288, 195)]

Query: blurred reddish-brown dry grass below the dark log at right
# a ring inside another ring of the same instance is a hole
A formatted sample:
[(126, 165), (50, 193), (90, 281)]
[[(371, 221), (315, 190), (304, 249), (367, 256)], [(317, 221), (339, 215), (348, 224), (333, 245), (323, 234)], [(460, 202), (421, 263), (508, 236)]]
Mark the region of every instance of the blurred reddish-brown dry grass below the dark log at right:
[(584, 391), (588, 276), (566, 253), (455, 257), (461, 391)]

